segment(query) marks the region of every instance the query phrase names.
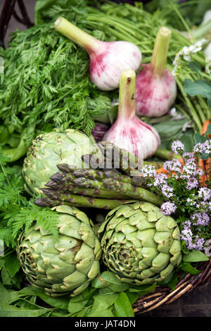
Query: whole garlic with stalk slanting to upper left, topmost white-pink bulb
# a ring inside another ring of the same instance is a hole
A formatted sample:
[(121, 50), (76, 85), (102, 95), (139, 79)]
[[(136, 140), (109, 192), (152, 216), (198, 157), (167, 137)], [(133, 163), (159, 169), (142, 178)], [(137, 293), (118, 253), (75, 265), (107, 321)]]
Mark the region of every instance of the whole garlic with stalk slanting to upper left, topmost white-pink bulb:
[(54, 26), (58, 32), (87, 51), (90, 57), (91, 81), (98, 89), (117, 89), (122, 70), (139, 69), (141, 51), (131, 42), (101, 42), (62, 17), (56, 20)]

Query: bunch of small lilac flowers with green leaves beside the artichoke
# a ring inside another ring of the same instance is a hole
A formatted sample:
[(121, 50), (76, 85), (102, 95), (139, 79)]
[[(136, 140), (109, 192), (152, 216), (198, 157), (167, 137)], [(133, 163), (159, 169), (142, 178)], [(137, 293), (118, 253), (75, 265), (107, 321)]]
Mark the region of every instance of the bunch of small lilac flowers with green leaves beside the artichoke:
[[(211, 139), (194, 146), (192, 153), (184, 151), (180, 141), (172, 143), (172, 151), (181, 159), (166, 161), (161, 170), (153, 165), (144, 165), (142, 176), (153, 192), (165, 202), (161, 211), (180, 223), (181, 240), (186, 249), (203, 251), (205, 242), (211, 237), (211, 189), (209, 181), (202, 186), (201, 177), (205, 170), (198, 166), (198, 159), (211, 156)], [(211, 174), (207, 170), (207, 177)]]

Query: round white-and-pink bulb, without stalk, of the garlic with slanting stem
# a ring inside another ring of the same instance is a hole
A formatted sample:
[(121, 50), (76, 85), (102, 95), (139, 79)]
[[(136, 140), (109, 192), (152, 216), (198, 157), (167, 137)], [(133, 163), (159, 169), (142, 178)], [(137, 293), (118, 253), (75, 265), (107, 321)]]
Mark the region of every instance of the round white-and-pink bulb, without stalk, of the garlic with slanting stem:
[(136, 71), (141, 65), (141, 51), (130, 42), (100, 42), (98, 51), (89, 52), (91, 81), (103, 91), (117, 89), (123, 70)]

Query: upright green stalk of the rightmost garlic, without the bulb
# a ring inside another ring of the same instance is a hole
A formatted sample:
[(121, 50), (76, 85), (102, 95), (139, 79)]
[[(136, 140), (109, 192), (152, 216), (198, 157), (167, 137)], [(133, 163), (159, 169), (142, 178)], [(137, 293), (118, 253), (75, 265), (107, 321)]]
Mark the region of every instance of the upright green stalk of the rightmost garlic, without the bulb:
[(167, 63), (167, 52), (172, 32), (167, 27), (160, 27), (155, 39), (151, 68), (155, 75), (161, 76)]

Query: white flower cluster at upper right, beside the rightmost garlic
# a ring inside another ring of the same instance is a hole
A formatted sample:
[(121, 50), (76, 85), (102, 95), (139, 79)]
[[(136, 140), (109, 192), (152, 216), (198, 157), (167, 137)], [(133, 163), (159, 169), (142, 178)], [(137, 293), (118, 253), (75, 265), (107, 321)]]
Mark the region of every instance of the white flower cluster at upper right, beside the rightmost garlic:
[(207, 39), (201, 39), (198, 40), (198, 42), (196, 42), (195, 44), (191, 45), (191, 46), (184, 46), (183, 49), (181, 49), (181, 51), (179, 51), (179, 53), (177, 53), (177, 55), (174, 58), (174, 69), (172, 70), (172, 75), (175, 76), (176, 72), (177, 72), (177, 68), (179, 66), (180, 63), (180, 56), (183, 56), (184, 60), (186, 61), (191, 61), (191, 54), (197, 53), (198, 51), (201, 51), (203, 49), (203, 45), (207, 44), (207, 42), (209, 42), (209, 40)]

